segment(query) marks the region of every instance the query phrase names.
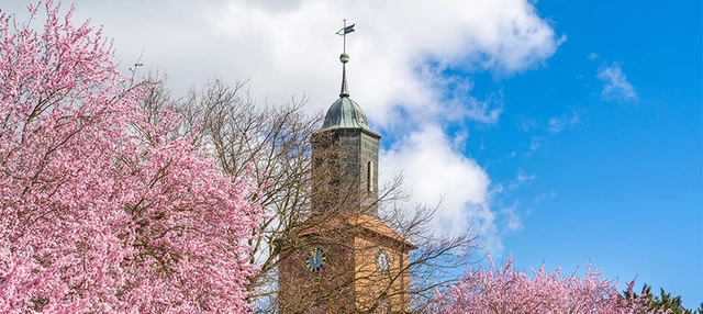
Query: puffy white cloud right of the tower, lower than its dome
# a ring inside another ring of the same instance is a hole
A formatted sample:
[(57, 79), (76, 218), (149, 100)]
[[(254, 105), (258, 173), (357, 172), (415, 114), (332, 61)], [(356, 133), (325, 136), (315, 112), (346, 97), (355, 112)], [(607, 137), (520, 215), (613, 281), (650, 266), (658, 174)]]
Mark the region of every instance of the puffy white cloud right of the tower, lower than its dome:
[(489, 209), (490, 179), (475, 160), (453, 149), (451, 139), (439, 127), (426, 126), (381, 152), (380, 167), (380, 180), (386, 181), (404, 171), (404, 187), (412, 191), (411, 204), (432, 205), (442, 200), (433, 222), (435, 231), (460, 233), (473, 225), (489, 242), (495, 240), (494, 213)]

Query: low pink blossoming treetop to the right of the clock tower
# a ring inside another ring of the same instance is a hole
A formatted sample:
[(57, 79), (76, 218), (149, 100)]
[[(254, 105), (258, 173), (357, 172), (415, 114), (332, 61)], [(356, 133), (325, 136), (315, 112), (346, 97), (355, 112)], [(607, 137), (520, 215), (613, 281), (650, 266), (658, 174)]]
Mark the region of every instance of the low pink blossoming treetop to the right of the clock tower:
[(544, 263), (532, 276), (513, 268), (507, 258), (502, 267), (469, 271), (447, 291), (435, 295), (434, 312), (455, 313), (668, 313), (650, 310), (645, 296), (617, 292), (617, 282), (601, 278), (589, 263), (581, 278), (576, 272), (561, 276), (559, 269), (547, 272)]

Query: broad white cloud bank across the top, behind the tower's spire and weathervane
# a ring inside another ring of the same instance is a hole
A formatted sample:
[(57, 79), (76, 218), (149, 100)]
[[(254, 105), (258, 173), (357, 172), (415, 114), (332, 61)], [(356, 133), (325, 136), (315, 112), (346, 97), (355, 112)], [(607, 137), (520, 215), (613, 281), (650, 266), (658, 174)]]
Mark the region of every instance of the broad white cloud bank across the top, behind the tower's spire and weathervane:
[[(7, 7), (25, 11), (23, 3)], [(77, 0), (76, 7), (76, 22), (104, 24), (124, 69), (144, 49), (144, 68), (167, 72), (176, 94), (213, 75), (252, 78), (254, 97), (284, 102), (305, 93), (311, 111), (326, 109), (338, 92), (342, 41), (334, 33), (347, 18), (357, 25), (347, 42), (352, 97), (379, 125), (399, 108), (417, 119), (492, 123), (500, 98), (473, 99), (467, 89), (446, 99), (444, 70), (510, 76), (544, 63), (565, 40), (527, 0)]]

